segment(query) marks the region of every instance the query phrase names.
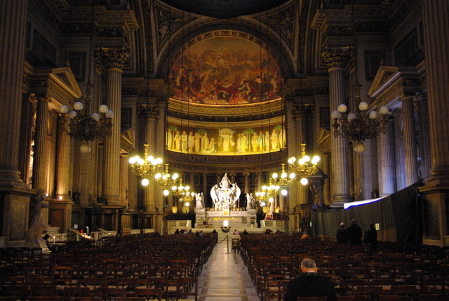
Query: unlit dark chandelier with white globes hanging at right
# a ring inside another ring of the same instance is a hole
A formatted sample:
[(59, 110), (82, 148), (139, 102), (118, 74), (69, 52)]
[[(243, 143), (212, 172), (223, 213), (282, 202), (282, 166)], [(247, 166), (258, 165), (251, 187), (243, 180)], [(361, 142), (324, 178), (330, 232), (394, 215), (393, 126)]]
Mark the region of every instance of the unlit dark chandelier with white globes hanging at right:
[(339, 105), (337, 111), (332, 112), (330, 116), (334, 120), (334, 136), (342, 136), (349, 138), (353, 142), (357, 142), (354, 151), (362, 153), (366, 147), (363, 141), (373, 139), (379, 133), (387, 131), (386, 124), (388, 122), (388, 107), (380, 107), (379, 113), (376, 111), (367, 112), (368, 103), (361, 102), (360, 98), (361, 84), (356, 81), (354, 84), (354, 102), (356, 104), (356, 112), (347, 114), (347, 106)]

